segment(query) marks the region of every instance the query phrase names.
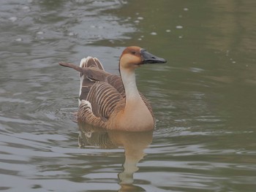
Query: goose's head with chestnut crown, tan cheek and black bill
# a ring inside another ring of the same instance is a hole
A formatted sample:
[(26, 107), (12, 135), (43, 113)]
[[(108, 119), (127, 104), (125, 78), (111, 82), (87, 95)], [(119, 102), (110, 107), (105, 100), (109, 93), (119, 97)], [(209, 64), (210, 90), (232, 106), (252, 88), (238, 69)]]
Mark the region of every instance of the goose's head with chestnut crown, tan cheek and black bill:
[(166, 60), (148, 53), (143, 48), (131, 46), (124, 49), (120, 57), (119, 68), (134, 70), (143, 64), (164, 64)]

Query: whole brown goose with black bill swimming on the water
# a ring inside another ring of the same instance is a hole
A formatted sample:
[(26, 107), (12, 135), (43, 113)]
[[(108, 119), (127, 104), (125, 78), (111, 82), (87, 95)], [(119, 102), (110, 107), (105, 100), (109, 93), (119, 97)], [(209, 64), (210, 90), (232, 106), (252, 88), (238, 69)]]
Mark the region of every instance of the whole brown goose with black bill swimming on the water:
[(132, 46), (121, 54), (120, 76), (105, 72), (99, 60), (90, 56), (83, 58), (80, 66), (59, 64), (80, 72), (78, 121), (107, 129), (147, 131), (154, 128), (154, 115), (148, 100), (138, 91), (135, 69), (165, 62)]

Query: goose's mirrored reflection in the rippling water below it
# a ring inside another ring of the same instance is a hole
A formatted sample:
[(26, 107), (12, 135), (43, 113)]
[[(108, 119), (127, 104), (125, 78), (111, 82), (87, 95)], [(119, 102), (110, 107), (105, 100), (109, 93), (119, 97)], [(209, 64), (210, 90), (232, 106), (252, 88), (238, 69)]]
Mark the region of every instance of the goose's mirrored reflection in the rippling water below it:
[(118, 174), (119, 191), (145, 191), (133, 185), (133, 174), (138, 171), (138, 162), (146, 155), (143, 150), (152, 142), (153, 131), (114, 131), (95, 128), (86, 123), (79, 123), (80, 147), (97, 146), (104, 149), (124, 147), (125, 161), (123, 172)]

